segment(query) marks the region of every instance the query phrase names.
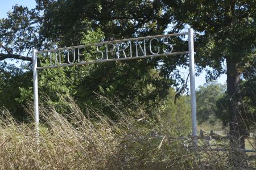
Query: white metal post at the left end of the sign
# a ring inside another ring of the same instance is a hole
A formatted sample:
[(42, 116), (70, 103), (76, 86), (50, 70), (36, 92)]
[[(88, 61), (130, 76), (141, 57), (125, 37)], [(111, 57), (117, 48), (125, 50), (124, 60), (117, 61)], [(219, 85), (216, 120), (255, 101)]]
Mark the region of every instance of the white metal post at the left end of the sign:
[(33, 49), (33, 84), (34, 84), (34, 117), (36, 126), (36, 138), (39, 137), (39, 108), (38, 108), (38, 67), (36, 49)]

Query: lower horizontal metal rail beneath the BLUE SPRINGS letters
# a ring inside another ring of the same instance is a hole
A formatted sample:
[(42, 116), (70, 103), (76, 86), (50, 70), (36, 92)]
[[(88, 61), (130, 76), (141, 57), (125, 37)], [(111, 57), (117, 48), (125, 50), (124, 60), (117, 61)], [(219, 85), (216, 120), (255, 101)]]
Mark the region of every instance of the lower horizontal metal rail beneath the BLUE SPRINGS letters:
[(173, 56), (177, 54), (188, 54), (189, 52), (174, 52), (174, 53), (167, 53), (167, 54), (153, 54), (149, 56), (138, 56), (138, 57), (126, 57), (126, 58), (112, 58), (112, 59), (97, 59), (94, 61), (87, 61), (87, 62), (77, 62), (77, 63), (68, 63), (68, 64), (61, 64), (61, 65), (52, 65), (46, 67), (37, 67), (36, 69), (51, 69), (56, 67), (65, 67), (65, 66), (76, 66), (76, 65), (87, 65), (91, 63), (100, 63), (100, 62), (110, 62), (110, 61), (123, 61), (129, 59), (139, 59), (139, 58), (150, 58), (150, 57), (161, 57), (161, 56)]

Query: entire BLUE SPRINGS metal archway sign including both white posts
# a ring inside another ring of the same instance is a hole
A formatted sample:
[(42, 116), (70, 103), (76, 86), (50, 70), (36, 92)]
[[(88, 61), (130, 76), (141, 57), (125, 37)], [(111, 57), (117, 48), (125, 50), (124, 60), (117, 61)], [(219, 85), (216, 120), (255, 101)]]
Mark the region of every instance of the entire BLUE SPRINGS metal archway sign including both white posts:
[[(171, 37), (183, 35), (188, 35), (188, 51), (175, 51), (174, 46), (171, 44)], [(189, 54), (192, 137), (194, 138), (194, 145), (197, 145), (195, 63), (193, 29), (191, 28), (188, 29), (188, 32), (184, 33), (105, 41), (94, 44), (44, 50), (40, 52), (36, 52), (36, 49), (33, 49), (34, 114), (37, 135), (39, 135), (38, 70), (64, 66), (86, 65), (90, 63), (122, 61), (128, 59), (171, 56), (176, 54)], [(46, 58), (47, 64), (38, 67), (37, 56), (43, 56)]]

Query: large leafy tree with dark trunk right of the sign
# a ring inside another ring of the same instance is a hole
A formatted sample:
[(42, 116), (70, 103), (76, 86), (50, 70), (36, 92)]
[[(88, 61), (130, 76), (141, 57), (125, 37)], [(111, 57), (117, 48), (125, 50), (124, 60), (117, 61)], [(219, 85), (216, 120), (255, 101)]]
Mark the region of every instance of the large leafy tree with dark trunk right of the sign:
[[(227, 74), (228, 114), (232, 143), (245, 147), (241, 108), (241, 77), (255, 60), (255, 1), (164, 1), (174, 11), (177, 25), (191, 25), (196, 63), (208, 70), (209, 78)], [(222, 63), (226, 61), (226, 68)], [(251, 70), (251, 69), (249, 69)], [(232, 102), (231, 102), (232, 101)], [(234, 106), (236, 106), (234, 108)]]

